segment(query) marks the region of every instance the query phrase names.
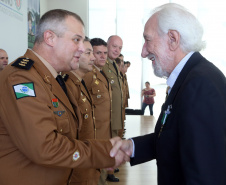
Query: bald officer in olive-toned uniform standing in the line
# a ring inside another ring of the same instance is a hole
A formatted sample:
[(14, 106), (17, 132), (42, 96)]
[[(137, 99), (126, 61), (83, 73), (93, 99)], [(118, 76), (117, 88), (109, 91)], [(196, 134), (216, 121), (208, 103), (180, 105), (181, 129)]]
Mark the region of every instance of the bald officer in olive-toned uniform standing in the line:
[[(112, 35), (108, 38), (107, 41), (108, 58), (106, 64), (103, 67), (103, 71), (106, 74), (108, 81), (111, 83), (112, 87), (112, 115), (111, 115), (112, 137), (118, 136), (119, 130), (123, 129), (122, 77), (120, 75), (120, 70), (115, 62), (115, 59), (119, 57), (121, 53), (122, 45), (123, 42), (119, 36)], [(119, 179), (114, 176), (113, 172), (109, 172), (107, 179), (112, 182), (119, 181)]]

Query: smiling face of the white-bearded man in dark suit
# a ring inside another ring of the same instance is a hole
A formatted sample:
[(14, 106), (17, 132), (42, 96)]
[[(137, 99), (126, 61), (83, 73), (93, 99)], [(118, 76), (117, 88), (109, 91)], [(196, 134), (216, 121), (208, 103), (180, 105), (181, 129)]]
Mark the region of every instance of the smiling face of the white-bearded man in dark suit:
[(144, 40), (141, 56), (152, 61), (154, 73), (158, 77), (169, 77), (167, 35), (159, 35), (156, 16), (152, 16), (144, 28)]

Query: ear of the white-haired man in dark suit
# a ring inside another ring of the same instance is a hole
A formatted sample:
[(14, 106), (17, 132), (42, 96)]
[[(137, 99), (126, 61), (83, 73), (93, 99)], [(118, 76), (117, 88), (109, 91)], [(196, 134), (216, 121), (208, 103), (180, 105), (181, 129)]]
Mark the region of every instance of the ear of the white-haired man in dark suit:
[(176, 30), (169, 30), (167, 35), (169, 49), (175, 51), (180, 46), (180, 33)]

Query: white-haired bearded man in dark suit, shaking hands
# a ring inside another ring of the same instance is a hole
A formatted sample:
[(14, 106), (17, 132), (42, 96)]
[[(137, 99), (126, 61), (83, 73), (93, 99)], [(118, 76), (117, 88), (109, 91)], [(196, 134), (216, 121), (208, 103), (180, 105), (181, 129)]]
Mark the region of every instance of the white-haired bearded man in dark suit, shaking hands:
[(123, 141), (121, 149), (132, 154), (131, 165), (156, 159), (159, 185), (225, 185), (226, 80), (199, 53), (201, 24), (169, 3), (155, 9), (143, 35), (142, 57), (167, 78), (169, 95), (154, 133)]

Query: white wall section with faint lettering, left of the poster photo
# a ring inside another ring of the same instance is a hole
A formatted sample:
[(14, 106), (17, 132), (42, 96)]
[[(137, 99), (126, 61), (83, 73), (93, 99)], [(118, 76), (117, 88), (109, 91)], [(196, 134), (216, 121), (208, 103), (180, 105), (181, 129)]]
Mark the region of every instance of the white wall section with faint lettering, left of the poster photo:
[(23, 55), (28, 46), (27, 0), (20, 5), (14, 0), (0, 1), (0, 48), (8, 53), (9, 62)]

